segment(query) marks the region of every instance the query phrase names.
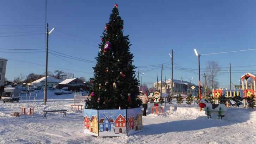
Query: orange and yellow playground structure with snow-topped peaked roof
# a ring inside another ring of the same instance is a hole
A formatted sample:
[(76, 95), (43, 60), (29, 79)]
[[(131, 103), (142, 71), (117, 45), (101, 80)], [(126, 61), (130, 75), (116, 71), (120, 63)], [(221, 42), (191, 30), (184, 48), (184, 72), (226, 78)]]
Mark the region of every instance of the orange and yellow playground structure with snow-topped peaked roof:
[[(251, 77), (253, 79), (253, 86), (254, 88), (252, 89), (252, 85), (250, 86), (250, 89), (248, 89), (248, 82), (247, 79)], [(244, 75), (242, 75), (240, 77), (240, 79), (242, 80), (242, 86), (237, 87), (237, 89), (234, 90), (223, 90), (223, 89), (217, 89), (214, 90), (213, 89), (213, 97), (217, 97), (219, 98), (220, 96), (223, 96), (224, 94), (226, 94), (226, 97), (233, 97), (235, 95), (240, 95), (242, 98), (246, 98), (246, 97), (250, 97), (252, 95), (256, 95), (256, 83), (255, 83), (255, 74), (252, 73), (246, 73)], [(245, 86), (244, 86), (244, 80), (245, 80)], [(236, 87), (235, 87), (236, 88)], [(240, 89), (238, 89), (240, 88)], [(245, 99), (243, 100), (243, 104), (245, 107)]]

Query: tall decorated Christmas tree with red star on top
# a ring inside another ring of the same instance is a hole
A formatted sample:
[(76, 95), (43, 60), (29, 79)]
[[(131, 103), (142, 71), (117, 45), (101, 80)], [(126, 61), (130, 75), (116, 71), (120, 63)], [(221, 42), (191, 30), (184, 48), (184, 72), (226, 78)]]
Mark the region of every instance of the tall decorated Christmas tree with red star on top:
[(105, 26), (102, 42), (99, 44), (97, 64), (94, 69), (89, 109), (128, 109), (141, 106), (139, 83), (135, 76), (133, 54), (128, 36), (123, 35), (123, 20), (119, 16), (118, 5), (112, 9), (109, 22)]

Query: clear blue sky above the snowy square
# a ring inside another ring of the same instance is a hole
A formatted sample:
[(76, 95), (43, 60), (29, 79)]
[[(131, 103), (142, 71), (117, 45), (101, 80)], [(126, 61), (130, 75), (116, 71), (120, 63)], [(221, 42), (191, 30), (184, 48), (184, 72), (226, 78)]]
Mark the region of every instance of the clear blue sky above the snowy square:
[[(201, 75), (205, 73), (207, 61), (219, 62), (221, 87), (229, 88), (230, 63), (231, 81), (235, 84), (239, 84), (243, 74), (256, 73), (256, 50), (249, 50), (256, 45), (254, 0), (48, 0), (46, 21), (49, 30), (55, 28), (49, 35), (48, 71), (63, 70), (89, 80), (93, 76), (100, 36), (115, 4), (124, 20), (124, 35), (129, 35), (132, 44), (133, 64), (144, 72), (142, 82), (148, 86), (157, 82), (157, 73), (160, 81), (162, 63), (163, 80), (171, 79), (172, 49), (173, 79), (182, 77), (190, 81), (193, 77), (191, 82), (198, 83), (198, 58), (194, 49), (201, 54)], [(1, 1), (0, 13), (0, 57), (8, 59), (6, 78), (13, 81), (20, 73), (43, 74), (45, 1)], [(218, 52), (227, 53), (203, 55)]]

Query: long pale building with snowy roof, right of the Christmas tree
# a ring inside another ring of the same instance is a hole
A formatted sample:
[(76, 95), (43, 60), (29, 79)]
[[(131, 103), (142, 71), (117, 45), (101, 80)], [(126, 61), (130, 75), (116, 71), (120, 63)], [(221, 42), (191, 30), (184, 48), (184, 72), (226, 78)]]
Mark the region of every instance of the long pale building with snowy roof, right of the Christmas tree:
[[(198, 89), (199, 87), (188, 81), (183, 80), (173, 80), (173, 90), (178, 90), (181, 92), (187, 92), (187, 89), (192, 89), (191, 87), (194, 86), (194, 89)], [(154, 88), (161, 89), (161, 81), (154, 83)], [(166, 81), (162, 81), (162, 93), (169, 93), (172, 91), (172, 80), (168, 79)]]

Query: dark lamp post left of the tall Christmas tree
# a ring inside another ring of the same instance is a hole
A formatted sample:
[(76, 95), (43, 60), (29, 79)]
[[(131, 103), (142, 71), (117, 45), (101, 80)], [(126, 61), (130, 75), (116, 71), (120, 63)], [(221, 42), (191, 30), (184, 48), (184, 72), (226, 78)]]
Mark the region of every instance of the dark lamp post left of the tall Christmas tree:
[(48, 37), (49, 34), (54, 30), (54, 28), (49, 32), (48, 23), (47, 23), (47, 40), (46, 40), (46, 64), (45, 64), (45, 83), (44, 83), (44, 105), (47, 101), (47, 76), (48, 76)]

